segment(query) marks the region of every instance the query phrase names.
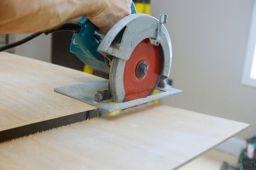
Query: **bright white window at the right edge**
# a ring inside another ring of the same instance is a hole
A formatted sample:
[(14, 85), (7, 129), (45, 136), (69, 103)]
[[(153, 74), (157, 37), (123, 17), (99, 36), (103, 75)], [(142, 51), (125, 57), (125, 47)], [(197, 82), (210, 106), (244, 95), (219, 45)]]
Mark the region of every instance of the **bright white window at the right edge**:
[(256, 2), (252, 11), (251, 26), (245, 55), (242, 84), (256, 87)]

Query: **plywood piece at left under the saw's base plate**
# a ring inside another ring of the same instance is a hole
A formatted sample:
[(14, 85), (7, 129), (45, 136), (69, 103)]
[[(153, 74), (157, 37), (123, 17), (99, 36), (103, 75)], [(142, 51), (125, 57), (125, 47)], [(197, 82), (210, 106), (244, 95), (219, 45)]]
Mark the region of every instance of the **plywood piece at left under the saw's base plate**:
[(0, 53), (0, 131), (95, 109), (54, 88), (102, 78), (19, 55)]

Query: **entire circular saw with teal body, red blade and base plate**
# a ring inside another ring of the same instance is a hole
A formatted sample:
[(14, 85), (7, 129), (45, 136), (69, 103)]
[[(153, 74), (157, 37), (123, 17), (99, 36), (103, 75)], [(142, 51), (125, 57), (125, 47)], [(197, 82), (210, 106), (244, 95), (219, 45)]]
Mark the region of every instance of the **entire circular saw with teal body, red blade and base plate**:
[[(181, 91), (166, 84), (171, 70), (171, 40), (163, 24), (167, 15), (157, 20), (136, 13), (117, 22), (106, 35), (83, 17), (80, 31), (74, 33), (70, 51), (88, 66), (109, 73), (109, 79), (55, 88), (64, 95), (97, 106), (102, 113), (126, 109)], [(157, 89), (159, 93), (152, 95)]]

